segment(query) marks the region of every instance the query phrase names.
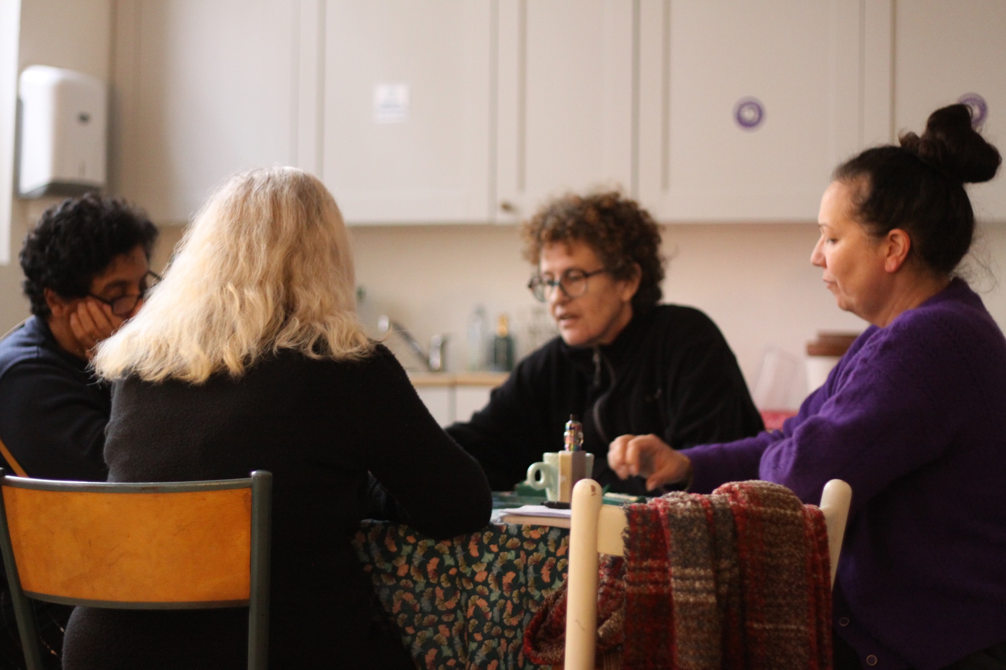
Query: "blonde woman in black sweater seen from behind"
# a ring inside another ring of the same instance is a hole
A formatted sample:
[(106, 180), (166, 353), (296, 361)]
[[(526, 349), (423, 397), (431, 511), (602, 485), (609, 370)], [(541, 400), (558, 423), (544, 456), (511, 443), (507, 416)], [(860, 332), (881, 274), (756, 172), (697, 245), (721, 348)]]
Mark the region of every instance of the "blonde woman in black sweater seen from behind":
[[(271, 666), (413, 667), (350, 547), (360, 519), (437, 537), (489, 520), (479, 465), (354, 312), (332, 196), (293, 168), (228, 181), (164, 281), (95, 358), (114, 383), (110, 481), (273, 472)], [(379, 482), (379, 483), (378, 483)], [(244, 667), (246, 610), (77, 608), (64, 667)]]

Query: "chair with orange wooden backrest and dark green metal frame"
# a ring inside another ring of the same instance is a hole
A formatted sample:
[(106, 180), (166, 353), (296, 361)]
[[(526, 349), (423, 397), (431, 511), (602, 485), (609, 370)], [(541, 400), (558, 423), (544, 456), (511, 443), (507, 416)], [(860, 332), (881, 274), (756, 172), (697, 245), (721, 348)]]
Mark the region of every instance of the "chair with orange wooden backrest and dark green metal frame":
[(42, 668), (29, 598), (127, 610), (247, 606), (247, 667), (265, 670), (272, 487), (265, 470), (165, 483), (0, 470), (0, 548), (28, 670)]

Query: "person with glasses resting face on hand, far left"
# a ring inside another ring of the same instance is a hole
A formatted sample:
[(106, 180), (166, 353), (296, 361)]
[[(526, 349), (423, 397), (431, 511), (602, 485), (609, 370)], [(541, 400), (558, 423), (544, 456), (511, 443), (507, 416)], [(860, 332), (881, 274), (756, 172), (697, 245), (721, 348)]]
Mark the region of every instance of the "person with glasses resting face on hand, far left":
[[(8, 474), (105, 481), (109, 386), (94, 347), (132, 316), (148, 288), (157, 229), (118, 198), (90, 193), (46, 209), (21, 247), (31, 316), (0, 339), (0, 452)], [(70, 608), (38, 603), (45, 667), (58, 668)], [(24, 667), (0, 578), (0, 667)]]

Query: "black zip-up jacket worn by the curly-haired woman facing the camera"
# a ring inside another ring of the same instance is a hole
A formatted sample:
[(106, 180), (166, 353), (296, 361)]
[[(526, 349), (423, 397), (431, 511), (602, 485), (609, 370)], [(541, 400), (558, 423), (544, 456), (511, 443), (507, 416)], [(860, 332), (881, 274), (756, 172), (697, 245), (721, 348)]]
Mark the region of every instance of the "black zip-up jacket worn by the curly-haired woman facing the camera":
[(661, 437), (675, 449), (729, 442), (764, 426), (736, 359), (716, 324), (698, 309), (658, 305), (636, 314), (597, 349), (556, 338), (524, 359), (489, 405), (448, 433), (475, 456), (493, 489), (512, 488), (546, 451), (562, 449), (570, 414), (595, 454), (594, 478), (642, 494), (646, 480), (620, 480), (608, 445), (620, 435)]

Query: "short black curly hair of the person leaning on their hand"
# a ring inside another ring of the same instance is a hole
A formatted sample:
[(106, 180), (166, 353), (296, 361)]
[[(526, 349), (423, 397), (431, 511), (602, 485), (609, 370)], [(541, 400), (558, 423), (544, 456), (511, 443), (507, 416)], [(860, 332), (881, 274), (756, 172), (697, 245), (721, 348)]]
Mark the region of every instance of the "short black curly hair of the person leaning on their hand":
[(18, 256), (31, 313), (49, 315), (46, 288), (64, 298), (86, 296), (95, 276), (137, 245), (150, 260), (156, 239), (157, 228), (147, 215), (120, 198), (89, 193), (49, 207), (25, 236)]

